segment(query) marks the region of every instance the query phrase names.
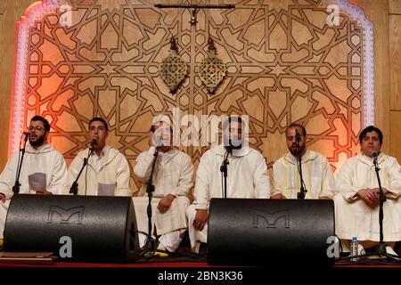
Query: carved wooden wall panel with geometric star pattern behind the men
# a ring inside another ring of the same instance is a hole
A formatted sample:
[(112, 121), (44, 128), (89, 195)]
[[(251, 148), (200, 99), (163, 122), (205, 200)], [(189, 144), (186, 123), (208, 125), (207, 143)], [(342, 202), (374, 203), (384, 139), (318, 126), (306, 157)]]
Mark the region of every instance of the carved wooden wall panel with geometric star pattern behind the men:
[[(27, 56), (24, 96), (14, 94), (14, 101), (23, 98), (22, 126), (34, 114), (48, 118), (51, 142), (70, 163), (86, 148), (89, 119), (107, 118), (109, 143), (127, 156), (131, 170), (147, 149), (151, 119), (158, 114), (173, 119), (176, 108), (181, 118), (195, 115), (200, 121), (201, 115), (248, 115), (250, 144), (269, 168), (287, 151), (284, 131), (291, 122), (307, 127), (307, 144), (334, 168), (359, 151), (357, 135), (372, 123), (367, 114), (372, 78), (366, 77), (372, 75), (367, 64), (372, 53), (366, 48), (372, 36), (357, 17), (341, 11), (340, 25), (329, 26), (321, 1), (245, 0), (231, 1), (231, 10), (202, 9), (191, 25), (189, 10), (159, 9), (156, 3), (74, 1), (67, 27), (60, 25), (60, 12), (49, 8), (55, 2), (44, 1), (46, 12), (29, 24), (27, 48), (17, 52), (17, 58)], [(176, 94), (160, 78), (171, 37), (188, 62)], [(214, 94), (197, 70), (208, 56), (209, 37), (226, 66)], [(12, 137), (19, 131), (14, 126)], [(181, 131), (181, 140), (191, 133), (187, 126)], [(179, 147), (195, 164), (209, 149)], [(133, 182), (139, 187), (134, 177)]]

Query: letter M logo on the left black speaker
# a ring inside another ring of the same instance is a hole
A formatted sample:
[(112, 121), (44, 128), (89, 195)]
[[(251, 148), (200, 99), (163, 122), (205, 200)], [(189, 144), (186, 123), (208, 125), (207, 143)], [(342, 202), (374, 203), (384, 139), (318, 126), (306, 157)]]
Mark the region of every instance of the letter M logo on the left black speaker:
[(74, 208), (61, 208), (59, 206), (50, 206), (47, 214), (47, 223), (60, 224), (82, 224), (84, 216), (84, 206)]

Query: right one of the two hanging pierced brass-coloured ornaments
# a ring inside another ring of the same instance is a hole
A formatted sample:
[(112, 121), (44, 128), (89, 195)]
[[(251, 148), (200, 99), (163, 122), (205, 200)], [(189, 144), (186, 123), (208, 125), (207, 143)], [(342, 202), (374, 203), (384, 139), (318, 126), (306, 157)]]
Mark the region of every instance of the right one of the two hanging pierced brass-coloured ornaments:
[(213, 40), (209, 38), (208, 57), (201, 61), (198, 74), (201, 81), (208, 89), (209, 94), (214, 94), (217, 86), (225, 78), (225, 63), (216, 56), (216, 47)]

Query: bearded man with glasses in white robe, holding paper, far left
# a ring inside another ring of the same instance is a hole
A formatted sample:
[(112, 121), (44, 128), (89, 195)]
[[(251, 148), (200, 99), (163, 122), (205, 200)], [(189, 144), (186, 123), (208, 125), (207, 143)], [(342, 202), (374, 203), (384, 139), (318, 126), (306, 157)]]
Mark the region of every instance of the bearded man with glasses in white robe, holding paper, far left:
[[(47, 142), (49, 122), (41, 117), (31, 118), (29, 143), (20, 167), (20, 193), (39, 195), (63, 194), (67, 169), (62, 154)], [(12, 186), (17, 179), (20, 151), (15, 152), (0, 175), (0, 238), (3, 239), (5, 216), (7, 215)]]

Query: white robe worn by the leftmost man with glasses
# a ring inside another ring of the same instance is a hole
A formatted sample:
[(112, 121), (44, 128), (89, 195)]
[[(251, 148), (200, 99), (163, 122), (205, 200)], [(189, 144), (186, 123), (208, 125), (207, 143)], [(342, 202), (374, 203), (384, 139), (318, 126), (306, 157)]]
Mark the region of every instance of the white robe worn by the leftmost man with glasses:
[[(6, 196), (5, 203), (0, 202), (0, 238), (2, 239), (5, 217), (13, 195), (12, 186), (16, 179), (19, 157), (20, 151), (13, 153), (0, 175), (0, 192)], [(35, 191), (29, 187), (29, 175), (35, 173), (45, 174), (46, 191), (53, 194), (66, 194), (64, 191), (67, 177), (65, 160), (50, 143), (45, 143), (37, 149), (30, 144), (27, 145), (20, 169), (20, 193), (35, 194)]]

